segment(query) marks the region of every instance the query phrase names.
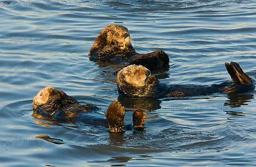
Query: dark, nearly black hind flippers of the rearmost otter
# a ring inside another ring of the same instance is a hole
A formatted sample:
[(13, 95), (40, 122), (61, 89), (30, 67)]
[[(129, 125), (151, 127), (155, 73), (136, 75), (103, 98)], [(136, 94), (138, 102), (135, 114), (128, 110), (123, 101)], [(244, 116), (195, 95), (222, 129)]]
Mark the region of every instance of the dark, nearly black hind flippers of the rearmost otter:
[(143, 65), (149, 70), (168, 67), (169, 57), (164, 51), (154, 51), (149, 54), (136, 54), (129, 62), (130, 65)]

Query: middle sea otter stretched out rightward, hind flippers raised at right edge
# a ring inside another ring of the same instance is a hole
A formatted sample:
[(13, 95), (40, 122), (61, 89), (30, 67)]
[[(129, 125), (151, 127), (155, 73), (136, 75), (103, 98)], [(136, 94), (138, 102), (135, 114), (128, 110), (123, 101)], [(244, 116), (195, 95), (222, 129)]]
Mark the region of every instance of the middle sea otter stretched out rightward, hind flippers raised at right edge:
[(142, 65), (129, 65), (118, 72), (116, 82), (118, 92), (125, 96), (184, 97), (200, 96), (212, 93), (239, 93), (254, 89), (252, 79), (247, 76), (238, 63), (225, 63), (233, 82), (224, 82), (211, 86), (166, 85), (151, 75)]

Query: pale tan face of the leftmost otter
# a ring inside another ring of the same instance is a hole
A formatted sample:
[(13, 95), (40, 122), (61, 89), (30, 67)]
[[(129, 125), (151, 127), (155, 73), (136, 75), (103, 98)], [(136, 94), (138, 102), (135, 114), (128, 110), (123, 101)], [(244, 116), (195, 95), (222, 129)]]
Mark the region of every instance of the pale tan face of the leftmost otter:
[(58, 90), (53, 87), (45, 87), (33, 99), (33, 107), (37, 108), (38, 106), (46, 104), (52, 96), (58, 94)]

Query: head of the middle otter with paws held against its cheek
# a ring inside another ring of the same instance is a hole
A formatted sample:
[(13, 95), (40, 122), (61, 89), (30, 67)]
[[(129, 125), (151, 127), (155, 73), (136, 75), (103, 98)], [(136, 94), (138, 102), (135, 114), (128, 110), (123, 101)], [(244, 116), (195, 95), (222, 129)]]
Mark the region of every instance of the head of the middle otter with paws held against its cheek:
[(116, 77), (119, 93), (127, 96), (155, 96), (157, 81), (142, 65), (128, 65)]

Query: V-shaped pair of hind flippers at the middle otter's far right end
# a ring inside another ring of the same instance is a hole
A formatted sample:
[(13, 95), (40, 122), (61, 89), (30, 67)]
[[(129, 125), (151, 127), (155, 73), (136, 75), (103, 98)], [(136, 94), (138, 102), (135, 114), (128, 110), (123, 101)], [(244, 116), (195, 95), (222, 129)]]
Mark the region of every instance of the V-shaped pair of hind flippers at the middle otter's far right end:
[(244, 73), (238, 63), (225, 62), (225, 65), (227, 72), (230, 74), (234, 83), (230, 87), (226, 88), (223, 93), (239, 93), (254, 89), (252, 79)]

